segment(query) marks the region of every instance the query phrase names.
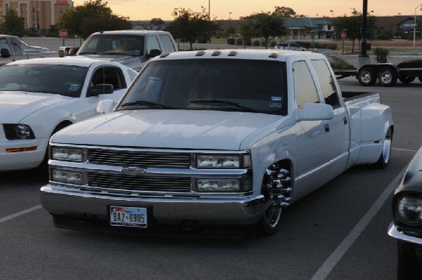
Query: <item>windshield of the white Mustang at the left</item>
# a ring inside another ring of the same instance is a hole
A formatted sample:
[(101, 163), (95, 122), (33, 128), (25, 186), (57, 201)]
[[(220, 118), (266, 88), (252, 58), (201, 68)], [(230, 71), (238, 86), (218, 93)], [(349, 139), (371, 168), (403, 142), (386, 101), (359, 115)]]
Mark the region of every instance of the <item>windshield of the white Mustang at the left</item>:
[(0, 91), (53, 93), (78, 98), (87, 67), (71, 65), (5, 65), (0, 68)]

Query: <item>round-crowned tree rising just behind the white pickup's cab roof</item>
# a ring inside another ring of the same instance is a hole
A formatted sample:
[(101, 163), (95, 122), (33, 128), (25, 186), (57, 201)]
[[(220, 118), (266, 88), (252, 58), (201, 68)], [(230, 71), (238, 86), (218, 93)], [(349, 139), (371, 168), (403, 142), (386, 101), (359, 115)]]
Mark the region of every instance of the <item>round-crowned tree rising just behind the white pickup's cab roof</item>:
[(219, 29), (215, 21), (208, 18), (205, 8), (201, 8), (200, 12), (194, 12), (190, 8), (174, 9), (172, 13), (174, 20), (165, 28), (166, 31), (172, 33), (174, 38), (188, 42), (191, 50), (193, 43), (208, 41)]

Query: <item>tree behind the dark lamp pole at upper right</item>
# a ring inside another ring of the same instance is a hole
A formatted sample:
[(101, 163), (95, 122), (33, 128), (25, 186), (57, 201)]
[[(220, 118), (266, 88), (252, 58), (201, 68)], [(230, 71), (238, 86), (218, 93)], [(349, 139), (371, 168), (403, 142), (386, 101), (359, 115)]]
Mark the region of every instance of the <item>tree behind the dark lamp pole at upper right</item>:
[[(347, 29), (347, 38), (352, 40), (352, 53), (354, 52), (355, 41), (360, 41), (362, 37), (362, 13), (353, 9), (352, 16), (348, 17), (343, 15), (342, 17), (335, 18), (333, 20), (333, 26), (340, 34), (343, 30)], [(367, 34), (371, 36), (375, 27), (375, 16), (368, 16), (366, 25)]]

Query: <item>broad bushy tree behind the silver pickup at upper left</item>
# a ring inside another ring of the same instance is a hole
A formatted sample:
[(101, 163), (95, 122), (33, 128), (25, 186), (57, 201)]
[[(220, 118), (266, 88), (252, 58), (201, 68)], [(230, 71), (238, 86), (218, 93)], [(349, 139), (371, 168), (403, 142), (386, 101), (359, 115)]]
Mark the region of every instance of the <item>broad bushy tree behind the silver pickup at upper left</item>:
[(115, 15), (107, 2), (94, 0), (84, 2), (63, 13), (60, 18), (60, 28), (68, 30), (69, 34), (87, 38), (98, 31), (132, 29), (129, 18)]

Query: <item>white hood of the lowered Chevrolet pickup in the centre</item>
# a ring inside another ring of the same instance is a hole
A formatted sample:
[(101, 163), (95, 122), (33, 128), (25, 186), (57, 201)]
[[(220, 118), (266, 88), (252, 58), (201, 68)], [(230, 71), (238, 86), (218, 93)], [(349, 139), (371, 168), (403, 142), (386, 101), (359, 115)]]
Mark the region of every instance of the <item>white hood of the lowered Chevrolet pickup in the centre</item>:
[[(103, 114), (68, 126), (51, 142), (177, 149), (245, 149), (283, 116), (248, 112), (136, 110)], [(278, 126), (278, 125), (277, 125)], [(266, 128), (267, 127), (267, 128)], [(253, 137), (252, 137), (253, 135)], [(245, 141), (246, 138), (250, 138)], [(242, 145), (243, 142), (248, 144)]]

